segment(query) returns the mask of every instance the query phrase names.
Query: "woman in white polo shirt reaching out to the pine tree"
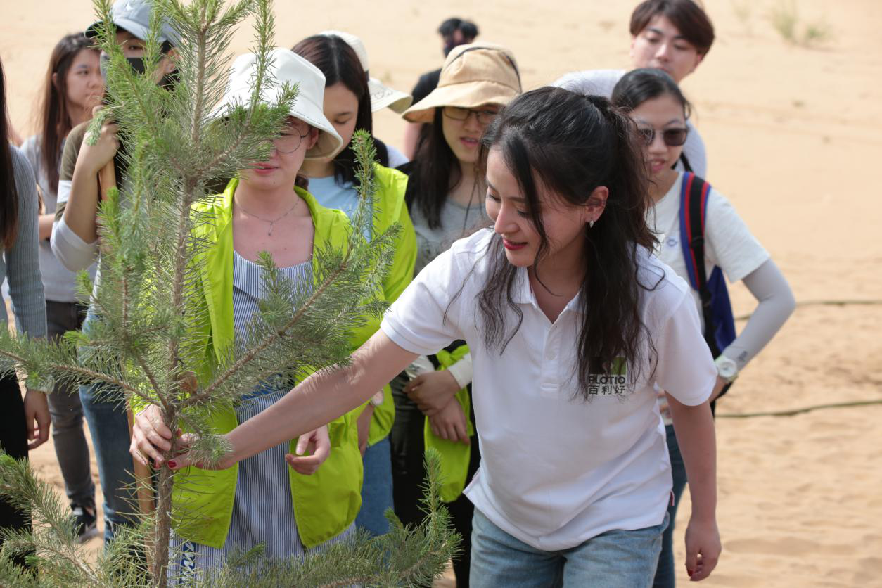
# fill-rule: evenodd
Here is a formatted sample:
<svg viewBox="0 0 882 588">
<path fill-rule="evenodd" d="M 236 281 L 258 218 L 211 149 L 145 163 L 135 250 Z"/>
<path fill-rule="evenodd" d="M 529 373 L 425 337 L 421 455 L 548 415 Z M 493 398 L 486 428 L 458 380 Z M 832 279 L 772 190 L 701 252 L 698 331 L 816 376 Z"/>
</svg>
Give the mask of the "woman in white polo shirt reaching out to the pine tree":
<svg viewBox="0 0 882 588">
<path fill-rule="evenodd" d="M 633 137 L 603 98 L 546 87 L 512 100 L 482 138 L 493 229 L 428 264 L 348 367 L 232 431 L 218 466 L 345 413 L 417 355 L 464 339 L 482 452 L 466 489 L 472 585 L 652 583 L 671 488 L 654 385 L 684 442 L 687 562 L 707 577 L 721 550 L 716 369 L 689 287 L 652 256 Z"/>
</svg>

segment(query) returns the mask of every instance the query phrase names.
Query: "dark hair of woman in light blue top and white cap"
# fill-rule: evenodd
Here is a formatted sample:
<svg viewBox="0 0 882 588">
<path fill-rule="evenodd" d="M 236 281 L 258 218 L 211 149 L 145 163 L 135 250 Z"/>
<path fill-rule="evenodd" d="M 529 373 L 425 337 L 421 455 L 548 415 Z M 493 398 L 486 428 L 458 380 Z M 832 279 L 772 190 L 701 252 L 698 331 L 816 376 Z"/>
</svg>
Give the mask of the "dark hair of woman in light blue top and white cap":
<svg viewBox="0 0 882 588">
<path fill-rule="evenodd" d="M 335 34 L 314 34 L 297 43 L 291 48 L 318 67 L 325 74 L 325 87 L 342 83 L 355 94 L 358 100 L 358 112 L 355 114 L 355 129 L 363 129 L 373 135 L 374 119 L 370 109 L 369 75 L 364 71 L 362 62 L 355 54 L 355 49 Z M 386 146 L 374 138 L 377 147 L 377 160 L 380 165 L 389 165 L 389 152 Z M 356 183 L 355 152 L 352 143 L 333 158 L 334 180 L 338 183 Z"/>
</svg>

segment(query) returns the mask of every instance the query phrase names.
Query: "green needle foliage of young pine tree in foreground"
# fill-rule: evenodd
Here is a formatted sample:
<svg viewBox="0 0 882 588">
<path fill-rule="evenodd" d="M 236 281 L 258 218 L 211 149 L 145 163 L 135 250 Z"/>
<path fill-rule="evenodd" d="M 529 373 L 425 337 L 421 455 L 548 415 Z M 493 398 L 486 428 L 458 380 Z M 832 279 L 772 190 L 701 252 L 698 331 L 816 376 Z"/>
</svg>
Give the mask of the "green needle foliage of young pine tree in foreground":
<svg viewBox="0 0 882 588">
<path fill-rule="evenodd" d="M 99 19 L 112 23 L 110 0 L 95 0 Z M 175 83 L 155 83 L 161 60 L 161 17 L 168 17 L 182 42 L 177 51 Z M 253 18 L 252 51 L 258 74 L 249 103 L 212 115 L 228 78 L 228 47 L 235 26 Z M 92 294 L 95 320 L 84 332 L 47 343 L 17 337 L 0 329 L 0 371 L 26 375 L 29 387 L 49 383 L 106 384 L 108 401 L 129 406 L 160 406 L 166 426 L 194 433 L 193 451 L 217 463 L 227 451 L 208 428 L 213 411 L 228 409 L 258 383 L 273 377 L 302 378 L 317 368 L 345 363 L 349 335 L 366 316 L 378 316 L 384 304 L 375 293 L 392 259 L 397 227 L 363 238 L 371 226 L 375 191 L 375 151 L 366 132 L 353 138 L 360 167 L 362 203 L 352 232 L 340 250 L 317 243 L 310 281 L 285 278 L 268 254 L 265 300 L 243 337 L 237 336 L 221 361 L 206 363 L 208 317 L 198 303 L 200 254 L 207 243 L 199 227 L 213 222 L 194 212 L 217 186 L 250 162 L 269 153 L 268 139 L 278 136 L 296 100 L 296 87 L 285 86 L 278 100 L 264 104 L 263 89 L 273 83 L 267 71 L 273 48 L 273 18 L 268 0 L 154 0 L 154 18 L 146 39 L 146 71 L 138 74 L 116 45 L 112 24 L 99 33 L 107 53 L 108 107 L 91 133 L 108 118 L 119 126 L 125 182 L 109 190 L 99 210 L 100 279 L 78 276 L 80 293 Z M 87 138 L 86 140 L 92 140 Z M 294 310 L 292 310 L 294 309 Z M 178 451 L 173 443 L 165 458 Z M 426 522 L 402 528 L 392 513 L 393 531 L 334 545 L 305 560 L 270 561 L 260 549 L 230 558 L 224 569 L 189 581 L 194 586 L 241 585 L 415 585 L 430 582 L 454 553 L 457 537 L 438 496 L 437 456 L 428 458 Z M 118 535 L 98 562 L 90 563 L 75 540 L 66 508 L 37 480 L 25 463 L 0 459 L 0 495 L 34 517 L 33 532 L 4 531 L 0 577 L 22 586 L 166 586 L 169 579 L 169 533 L 172 484 L 176 473 L 153 474 L 156 510 L 141 525 Z M 144 480 L 141 482 L 146 483 Z M 133 507 L 134 510 L 134 507 Z M 187 525 L 184 519 L 175 525 Z M 198 517 L 198 513 L 191 513 Z M 14 555 L 27 557 L 38 577 L 19 569 Z"/>
</svg>

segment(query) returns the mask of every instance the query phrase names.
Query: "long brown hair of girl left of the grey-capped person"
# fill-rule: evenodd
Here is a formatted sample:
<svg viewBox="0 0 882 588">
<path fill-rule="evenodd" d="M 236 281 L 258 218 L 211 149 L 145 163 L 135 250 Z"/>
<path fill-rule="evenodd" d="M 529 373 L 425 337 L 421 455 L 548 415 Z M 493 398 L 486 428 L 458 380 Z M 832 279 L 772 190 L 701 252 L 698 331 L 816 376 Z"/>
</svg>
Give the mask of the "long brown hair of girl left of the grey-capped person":
<svg viewBox="0 0 882 588">
<path fill-rule="evenodd" d="M 83 33 L 64 35 L 49 56 L 49 70 L 43 88 L 40 106 L 39 129 L 41 137 L 42 164 L 49 178 L 49 187 L 58 190 L 58 163 L 61 145 L 71 132 L 71 115 L 67 111 L 67 72 L 71 63 L 83 49 L 98 53 L 93 40 Z M 55 81 L 53 81 L 53 76 Z"/>
</svg>

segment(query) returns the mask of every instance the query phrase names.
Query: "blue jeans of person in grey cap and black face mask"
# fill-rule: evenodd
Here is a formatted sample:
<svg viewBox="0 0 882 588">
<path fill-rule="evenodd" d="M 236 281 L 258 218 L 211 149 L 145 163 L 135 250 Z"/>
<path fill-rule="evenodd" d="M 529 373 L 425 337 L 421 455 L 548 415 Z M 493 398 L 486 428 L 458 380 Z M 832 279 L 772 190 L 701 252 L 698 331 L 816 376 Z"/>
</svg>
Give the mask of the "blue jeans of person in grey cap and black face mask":
<svg viewBox="0 0 882 588">
<path fill-rule="evenodd" d="M 93 317 L 86 316 L 83 330 Z M 112 541 L 119 525 L 136 525 L 138 502 L 129 453 L 129 419 L 122 391 L 107 384 L 93 383 L 79 387 L 79 400 L 86 415 L 98 462 L 101 492 L 104 493 L 104 540 Z"/>
</svg>

